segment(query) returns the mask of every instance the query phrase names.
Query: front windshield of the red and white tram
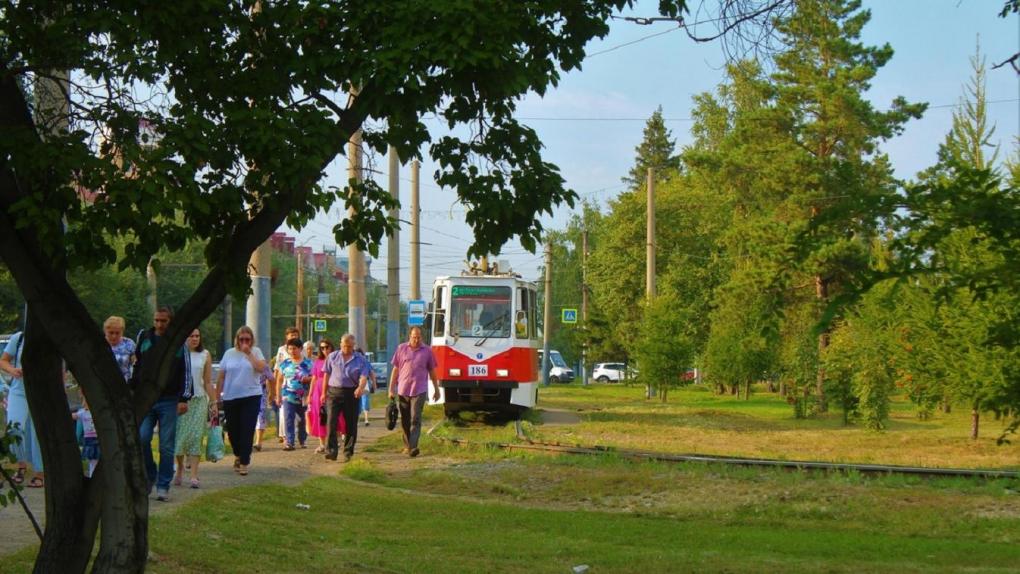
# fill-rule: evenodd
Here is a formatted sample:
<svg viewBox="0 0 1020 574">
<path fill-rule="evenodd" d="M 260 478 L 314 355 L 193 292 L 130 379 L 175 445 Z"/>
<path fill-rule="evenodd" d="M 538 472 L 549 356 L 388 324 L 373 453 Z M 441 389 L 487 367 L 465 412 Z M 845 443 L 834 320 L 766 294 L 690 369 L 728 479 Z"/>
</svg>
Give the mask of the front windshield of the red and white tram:
<svg viewBox="0 0 1020 574">
<path fill-rule="evenodd" d="M 509 286 L 454 285 L 450 292 L 450 333 L 468 338 L 509 338 Z"/>
</svg>

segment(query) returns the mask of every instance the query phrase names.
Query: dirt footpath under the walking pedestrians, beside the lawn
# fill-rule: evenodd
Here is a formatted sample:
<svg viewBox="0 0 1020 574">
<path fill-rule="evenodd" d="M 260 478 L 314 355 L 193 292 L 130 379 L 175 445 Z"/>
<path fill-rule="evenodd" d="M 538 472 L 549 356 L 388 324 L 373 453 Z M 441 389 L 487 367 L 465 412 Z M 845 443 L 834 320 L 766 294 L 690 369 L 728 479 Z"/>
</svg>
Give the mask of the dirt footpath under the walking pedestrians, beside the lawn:
<svg viewBox="0 0 1020 574">
<path fill-rule="evenodd" d="M 377 396 L 378 397 L 378 396 Z M 385 396 L 384 396 L 385 397 Z M 373 403 L 385 405 L 384 400 L 376 400 Z M 409 459 L 399 451 L 366 453 L 365 449 L 374 443 L 380 436 L 397 430 L 387 430 L 386 422 L 382 420 L 385 408 L 377 407 L 370 413 L 370 423 L 365 426 L 360 423 L 358 427 L 358 445 L 355 450 L 355 460 L 364 458 L 373 465 L 384 468 L 387 472 L 400 472 L 414 467 L 443 466 L 446 461 L 428 456 L 428 452 L 422 452 L 421 457 Z M 543 422 L 547 424 L 574 424 L 579 421 L 576 415 L 565 411 L 543 411 Z M 422 431 L 427 430 L 423 428 Z M 188 473 L 185 473 L 185 480 L 182 486 L 170 486 L 170 500 L 162 503 L 156 501 L 155 493 L 149 497 L 149 512 L 160 514 L 170 512 L 177 506 L 202 495 L 212 490 L 233 488 L 245 484 L 300 484 L 313 476 L 335 475 L 343 468 L 343 463 L 326 461 L 322 455 L 315 454 L 317 438 L 309 437 L 308 449 L 298 449 L 296 451 L 284 451 L 284 445 L 276 440 L 275 436 L 266 434 L 262 442 L 261 453 L 252 453 L 252 464 L 248 476 L 239 476 L 234 472 L 234 458 L 227 456 L 217 463 L 202 462 L 199 466 L 199 478 L 201 487 L 189 487 Z M 6 494 L 7 487 L 0 489 L 0 493 Z M 36 520 L 40 526 L 45 527 L 46 503 L 43 488 L 23 488 L 21 495 L 29 503 Z M 26 516 L 21 506 L 17 503 L 11 506 L 0 508 L 0 557 L 11 554 L 23 546 L 38 543 L 39 539 L 32 527 L 32 522 Z"/>
</svg>

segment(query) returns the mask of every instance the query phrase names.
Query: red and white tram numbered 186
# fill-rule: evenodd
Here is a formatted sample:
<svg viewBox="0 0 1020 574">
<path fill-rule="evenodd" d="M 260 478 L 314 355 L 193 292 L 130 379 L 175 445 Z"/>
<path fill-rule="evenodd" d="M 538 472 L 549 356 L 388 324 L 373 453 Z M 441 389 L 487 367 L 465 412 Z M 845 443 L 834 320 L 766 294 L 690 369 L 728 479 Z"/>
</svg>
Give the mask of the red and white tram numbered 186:
<svg viewBox="0 0 1020 574">
<path fill-rule="evenodd" d="M 477 273 L 477 272 L 476 272 Z M 523 411 L 539 397 L 536 285 L 513 273 L 438 277 L 431 347 L 448 416 Z"/>
</svg>

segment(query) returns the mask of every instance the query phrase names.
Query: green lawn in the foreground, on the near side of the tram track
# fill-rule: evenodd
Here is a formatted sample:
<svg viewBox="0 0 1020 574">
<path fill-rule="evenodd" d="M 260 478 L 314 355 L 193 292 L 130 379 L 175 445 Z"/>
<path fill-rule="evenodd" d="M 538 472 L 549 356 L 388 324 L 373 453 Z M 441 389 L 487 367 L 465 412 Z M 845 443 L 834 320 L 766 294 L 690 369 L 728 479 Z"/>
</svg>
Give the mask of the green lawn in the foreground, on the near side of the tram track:
<svg viewBox="0 0 1020 574">
<path fill-rule="evenodd" d="M 344 477 L 212 492 L 156 516 L 147 570 L 1014 572 L 1020 561 L 1020 485 L 1007 481 L 424 446 L 449 464 L 387 472 L 359 459 Z M 31 559 L 6 557 L 0 571 Z"/>
</svg>

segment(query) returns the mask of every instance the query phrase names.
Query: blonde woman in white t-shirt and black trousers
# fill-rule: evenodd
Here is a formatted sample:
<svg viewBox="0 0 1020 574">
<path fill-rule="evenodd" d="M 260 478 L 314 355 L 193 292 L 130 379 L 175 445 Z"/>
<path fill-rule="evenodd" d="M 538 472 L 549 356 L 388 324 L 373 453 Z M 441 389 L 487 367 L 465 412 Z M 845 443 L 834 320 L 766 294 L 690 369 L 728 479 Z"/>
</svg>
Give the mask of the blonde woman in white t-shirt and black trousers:
<svg viewBox="0 0 1020 574">
<path fill-rule="evenodd" d="M 226 415 L 226 434 L 234 449 L 234 470 L 245 476 L 251 464 L 252 440 L 259 404 L 262 402 L 260 377 L 266 368 L 265 358 L 255 347 L 255 333 L 245 325 L 234 335 L 234 348 L 219 360 L 219 397 Z"/>
</svg>

